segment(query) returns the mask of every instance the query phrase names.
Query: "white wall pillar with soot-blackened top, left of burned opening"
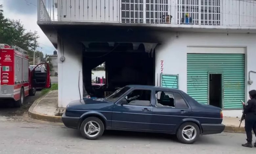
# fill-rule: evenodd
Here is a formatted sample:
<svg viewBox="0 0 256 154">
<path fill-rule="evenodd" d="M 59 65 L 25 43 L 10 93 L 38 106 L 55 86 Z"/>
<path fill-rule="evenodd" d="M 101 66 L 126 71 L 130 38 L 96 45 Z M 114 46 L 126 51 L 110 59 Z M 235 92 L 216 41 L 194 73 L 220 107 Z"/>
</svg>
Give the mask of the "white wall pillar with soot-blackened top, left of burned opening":
<svg viewBox="0 0 256 154">
<path fill-rule="evenodd" d="M 72 43 L 70 39 L 63 39 L 64 62 L 60 61 L 61 38 L 58 38 L 58 49 L 60 51 L 58 54 L 58 106 L 66 107 L 71 101 L 80 100 L 78 87 L 80 87 L 81 97 L 83 96 L 82 48 Z"/>
</svg>

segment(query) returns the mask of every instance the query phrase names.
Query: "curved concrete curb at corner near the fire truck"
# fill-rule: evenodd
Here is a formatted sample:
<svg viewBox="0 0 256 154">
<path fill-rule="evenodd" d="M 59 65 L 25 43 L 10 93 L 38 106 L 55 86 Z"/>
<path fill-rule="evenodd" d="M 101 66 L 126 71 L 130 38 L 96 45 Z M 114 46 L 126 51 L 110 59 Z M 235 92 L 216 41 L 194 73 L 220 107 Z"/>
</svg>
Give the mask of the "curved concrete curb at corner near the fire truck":
<svg viewBox="0 0 256 154">
<path fill-rule="evenodd" d="M 40 98 L 38 98 L 37 100 L 34 101 L 32 106 L 30 106 L 30 108 L 29 108 L 28 115 L 30 118 L 36 119 L 36 120 L 42 120 L 42 121 L 48 121 L 48 122 L 54 122 L 54 123 L 62 123 L 61 116 L 45 115 L 45 114 L 41 114 L 41 113 L 33 111 L 34 107 L 38 104 L 38 102 L 40 102 L 43 98 L 45 98 L 50 92 L 52 92 L 52 91 L 47 92 L 46 94 L 44 94 L 43 96 L 41 96 Z"/>
</svg>

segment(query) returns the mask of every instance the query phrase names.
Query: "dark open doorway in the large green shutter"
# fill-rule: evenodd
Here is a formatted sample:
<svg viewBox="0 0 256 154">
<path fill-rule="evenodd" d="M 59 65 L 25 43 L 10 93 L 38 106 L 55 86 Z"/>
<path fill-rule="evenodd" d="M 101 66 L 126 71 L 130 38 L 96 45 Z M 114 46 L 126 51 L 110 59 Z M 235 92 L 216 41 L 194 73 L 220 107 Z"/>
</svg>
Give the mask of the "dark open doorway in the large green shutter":
<svg viewBox="0 0 256 154">
<path fill-rule="evenodd" d="M 223 108 L 223 73 L 208 73 L 208 81 L 209 105 Z"/>
</svg>

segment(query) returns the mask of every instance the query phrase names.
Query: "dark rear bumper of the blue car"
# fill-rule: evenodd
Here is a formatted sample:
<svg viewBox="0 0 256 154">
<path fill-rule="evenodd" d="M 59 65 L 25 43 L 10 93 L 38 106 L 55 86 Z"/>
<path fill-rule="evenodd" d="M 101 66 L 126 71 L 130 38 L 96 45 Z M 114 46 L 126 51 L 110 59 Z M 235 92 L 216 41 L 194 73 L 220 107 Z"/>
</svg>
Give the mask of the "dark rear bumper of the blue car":
<svg viewBox="0 0 256 154">
<path fill-rule="evenodd" d="M 219 134 L 222 133 L 225 129 L 223 124 L 202 124 L 203 135 L 208 134 Z"/>
</svg>

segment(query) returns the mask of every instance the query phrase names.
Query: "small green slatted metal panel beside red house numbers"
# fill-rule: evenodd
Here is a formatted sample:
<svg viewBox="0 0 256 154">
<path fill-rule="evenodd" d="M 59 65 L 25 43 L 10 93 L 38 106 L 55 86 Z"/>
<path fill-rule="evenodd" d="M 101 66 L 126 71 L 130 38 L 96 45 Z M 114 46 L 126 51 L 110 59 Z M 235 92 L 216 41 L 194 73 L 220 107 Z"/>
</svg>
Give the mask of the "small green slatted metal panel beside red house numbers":
<svg viewBox="0 0 256 154">
<path fill-rule="evenodd" d="M 171 74 L 161 74 L 161 87 L 179 89 L 179 76 Z"/>
</svg>

